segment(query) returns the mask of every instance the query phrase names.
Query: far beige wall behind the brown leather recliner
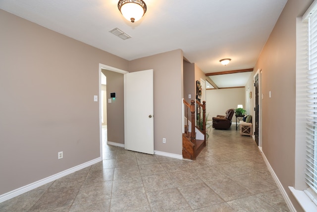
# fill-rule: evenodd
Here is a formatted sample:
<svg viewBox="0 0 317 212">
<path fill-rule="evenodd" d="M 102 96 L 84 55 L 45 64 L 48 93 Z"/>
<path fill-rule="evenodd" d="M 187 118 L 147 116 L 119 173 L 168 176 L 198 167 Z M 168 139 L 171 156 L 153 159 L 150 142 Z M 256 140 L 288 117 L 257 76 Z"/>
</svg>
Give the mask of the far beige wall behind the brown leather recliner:
<svg viewBox="0 0 317 212">
<path fill-rule="evenodd" d="M 236 109 L 238 104 L 245 102 L 244 88 L 208 89 L 206 91 L 206 113 L 208 120 L 217 115 L 225 115 L 226 110 Z M 235 118 L 232 118 L 235 122 Z"/>
</svg>

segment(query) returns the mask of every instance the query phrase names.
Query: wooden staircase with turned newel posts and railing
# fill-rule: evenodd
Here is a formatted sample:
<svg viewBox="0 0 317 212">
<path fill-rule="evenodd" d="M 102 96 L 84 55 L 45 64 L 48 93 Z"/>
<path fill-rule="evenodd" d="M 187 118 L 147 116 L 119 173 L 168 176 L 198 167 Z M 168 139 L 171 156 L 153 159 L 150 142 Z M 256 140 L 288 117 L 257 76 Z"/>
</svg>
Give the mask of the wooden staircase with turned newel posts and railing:
<svg viewBox="0 0 317 212">
<path fill-rule="evenodd" d="M 183 124 L 183 158 L 190 160 L 195 160 L 206 146 L 206 102 L 203 101 L 203 104 L 201 104 L 196 100 L 196 104 L 197 106 L 194 100 L 191 101 L 191 104 L 188 104 L 183 99 L 183 115 L 185 120 Z M 198 119 L 202 122 L 202 129 L 195 126 L 197 122 L 195 118 L 196 112 Z M 197 133 L 203 136 L 199 138 Z"/>
</svg>

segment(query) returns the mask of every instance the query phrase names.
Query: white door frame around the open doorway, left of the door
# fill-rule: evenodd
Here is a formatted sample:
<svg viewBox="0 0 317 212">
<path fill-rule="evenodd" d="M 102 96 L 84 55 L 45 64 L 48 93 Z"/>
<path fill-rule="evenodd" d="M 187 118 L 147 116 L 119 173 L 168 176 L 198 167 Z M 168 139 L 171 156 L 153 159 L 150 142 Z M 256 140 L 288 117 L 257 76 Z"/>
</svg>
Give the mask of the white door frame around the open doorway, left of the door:
<svg viewBox="0 0 317 212">
<path fill-rule="evenodd" d="M 114 72 L 118 72 L 118 73 L 128 73 L 128 71 L 124 71 L 121 69 L 117 69 L 111 66 L 107 66 L 104 64 L 99 64 L 99 138 L 100 138 L 100 157 L 103 158 L 103 138 L 102 138 L 102 119 L 101 119 L 101 101 L 100 101 L 100 97 L 101 97 L 101 74 L 102 74 L 102 70 L 108 70 L 108 71 L 114 71 Z M 124 82 L 123 82 L 123 86 L 124 86 Z"/>
</svg>

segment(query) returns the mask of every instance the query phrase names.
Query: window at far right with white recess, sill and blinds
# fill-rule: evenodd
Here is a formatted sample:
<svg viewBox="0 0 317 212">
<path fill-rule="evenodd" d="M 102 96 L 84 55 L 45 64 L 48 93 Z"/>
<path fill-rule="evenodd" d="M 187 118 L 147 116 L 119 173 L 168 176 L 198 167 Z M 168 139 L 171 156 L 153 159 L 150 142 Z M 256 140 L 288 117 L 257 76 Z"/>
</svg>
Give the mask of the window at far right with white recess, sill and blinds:
<svg viewBox="0 0 317 212">
<path fill-rule="evenodd" d="M 317 212 L 316 8 L 314 0 L 303 17 L 296 18 L 295 188 L 289 189 L 304 211 Z"/>
</svg>

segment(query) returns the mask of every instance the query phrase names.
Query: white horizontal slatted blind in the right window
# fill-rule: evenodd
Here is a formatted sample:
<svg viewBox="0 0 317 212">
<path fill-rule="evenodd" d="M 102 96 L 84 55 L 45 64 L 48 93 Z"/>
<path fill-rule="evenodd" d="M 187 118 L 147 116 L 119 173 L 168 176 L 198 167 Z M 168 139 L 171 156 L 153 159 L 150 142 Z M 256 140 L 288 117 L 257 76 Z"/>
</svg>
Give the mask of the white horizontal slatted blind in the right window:
<svg viewBox="0 0 317 212">
<path fill-rule="evenodd" d="M 309 17 L 309 70 L 307 80 L 306 183 L 317 193 L 317 12 Z"/>
</svg>

